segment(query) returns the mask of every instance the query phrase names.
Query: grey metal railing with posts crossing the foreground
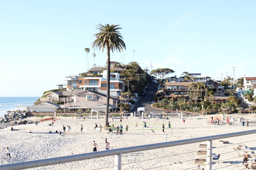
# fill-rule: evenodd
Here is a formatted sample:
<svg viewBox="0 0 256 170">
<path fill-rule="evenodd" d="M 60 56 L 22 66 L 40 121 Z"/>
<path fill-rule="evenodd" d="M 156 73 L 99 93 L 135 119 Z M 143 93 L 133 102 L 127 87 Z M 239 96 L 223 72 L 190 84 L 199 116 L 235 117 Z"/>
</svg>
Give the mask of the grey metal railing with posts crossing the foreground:
<svg viewBox="0 0 256 170">
<path fill-rule="evenodd" d="M 170 142 L 163 142 L 163 143 L 155 143 L 155 144 L 150 144 L 150 145 L 112 149 L 112 150 L 108 150 L 108 151 L 98 151 L 98 152 L 90 152 L 90 153 L 83 153 L 83 154 L 77 154 L 77 155 L 61 156 L 61 157 L 57 157 L 57 158 L 25 161 L 25 162 L 0 165 L 0 169 L 1 170 L 19 170 L 19 169 L 34 168 L 34 167 L 40 167 L 40 166 L 61 164 L 61 163 L 81 161 L 81 160 L 94 159 L 94 158 L 115 155 L 115 170 L 121 170 L 121 166 L 122 166 L 121 158 L 122 158 L 122 154 L 124 154 L 124 153 L 131 153 L 131 152 L 138 152 L 138 151 L 145 151 L 145 150 L 159 149 L 159 148 L 167 148 L 167 147 L 172 147 L 172 146 L 179 146 L 179 145 L 186 145 L 186 144 L 190 144 L 190 143 L 207 141 L 207 170 L 211 170 L 212 140 L 230 138 L 230 137 L 236 137 L 236 136 L 243 136 L 243 135 L 250 135 L 250 134 L 255 134 L 255 133 L 256 133 L 256 130 L 248 130 L 248 131 L 243 131 L 243 132 L 206 136 L 206 137 L 199 137 L 199 138 L 193 138 L 193 139 L 184 139 L 184 140 L 177 140 L 177 141 L 170 141 Z"/>
</svg>

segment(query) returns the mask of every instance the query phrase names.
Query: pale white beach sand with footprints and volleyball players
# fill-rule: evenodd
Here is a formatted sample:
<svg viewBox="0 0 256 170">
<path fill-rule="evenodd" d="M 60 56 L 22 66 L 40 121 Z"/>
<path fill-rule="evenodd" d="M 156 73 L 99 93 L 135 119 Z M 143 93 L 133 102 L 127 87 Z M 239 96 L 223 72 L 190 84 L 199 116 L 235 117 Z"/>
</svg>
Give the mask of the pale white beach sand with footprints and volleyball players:
<svg viewBox="0 0 256 170">
<path fill-rule="evenodd" d="M 210 115 L 210 117 L 211 116 L 214 115 Z M 231 114 L 229 116 L 239 116 L 239 114 Z M 254 114 L 246 114 L 242 116 L 247 120 L 251 120 L 252 116 L 254 117 Z M 31 117 L 30 119 L 35 120 L 37 118 Z M 179 118 L 171 118 L 172 131 L 171 129 L 167 129 L 168 125 L 166 124 L 165 133 L 163 133 L 161 129 L 157 129 L 154 130 L 156 135 L 150 135 L 150 130 L 129 130 L 128 134 L 124 134 L 125 124 L 135 124 L 136 122 L 142 124 L 142 120 L 138 117 L 136 117 L 135 123 L 133 117 L 128 117 L 128 121 L 126 119 L 123 120 L 123 135 L 111 135 L 107 133 L 108 131 L 103 131 L 103 134 L 99 135 L 98 131 L 94 130 L 94 125 L 95 123 L 104 125 L 103 118 L 99 119 L 98 122 L 96 119 L 93 119 L 91 122 L 88 118 L 86 121 L 75 118 L 71 121 L 70 117 L 62 117 L 61 120 L 57 120 L 54 126 L 47 126 L 51 121 L 41 122 L 38 126 L 35 126 L 35 124 L 13 126 L 14 129 L 19 129 L 18 131 L 10 131 L 10 127 L 7 127 L 5 129 L 0 129 L 0 148 L 2 149 L 0 163 L 8 164 L 20 161 L 89 153 L 92 152 L 93 140 L 98 144 L 98 150 L 102 151 L 104 150 L 106 137 L 110 141 L 110 149 L 116 149 L 253 130 L 256 127 L 256 123 L 250 123 L 249 126 L 241 126 L 241 123 L 237 123 L 237 121 L 236 125 L 233 126 L 226 124 L 209 125 L 206 124 L 206 120 L 208 119 L 209 115 L 191 116 L 187 117 L 184 125 L 180 122 Z M 164 123 L 168 123 L 168 121 L 169 120 L 166 120 Z M 114 124 L 118 122 L 119 119 L 116 118 Z M 145 122 L 147 124 L 153 124 L 155 123 L 155 119 L 146 119 Z M 83 124 L 83 134 L 80 132 L 81 123 Z M 159 120 L 158 123 L 163 123 L 163 120 Z M 58 130 L 58 132 L 63 131 L 62 125 L 71 126 L 70 135 L 60 136 L 59 133 L 48 133 L 49 130 L 52 132 L 55 132 L 56 130 Z M 161 125 L 147 126 L 150 126 L 151 128 L 161 128 Z M 135 125 L 129 125 L 129 129 L 132 128 L 135 128 Z M 143 129 L 143 125 L 138 125 L 137 128 Z M 229 143 L 218 144 L 218 140 L 212 142 L 212 153 L 221 154 L 219 163 L 217 161 L 216 164 L 213 164 L 212 169 L 243 169 L 243 156 L 238 157 L 236 151 L 233 151 L 229 145 L 243 142 L 255 152 L 255 135 L 221 140 L 227 140 Z M 206 159 L 206 155 L 197 155 L 197 151 L 202 150 L 198 148 L 199 144 L 207 144 L 207 142 L 122 154 L 122 169 L 197 169 L 196 167 L 198 164 L 194 164 L 194 160 L 198 158 Z M 5 154 L 6 147 L 9 147 L 11 150 L 10 159 L 7 158 Z M 254 154 L 251 155 L 252 158 L 254 158 Z M 114 169 L 114 158 L 114 156 L 108 156 L 31 169 Z M 206 166 L 203 167 L 206 168 Z"/>
</svg>

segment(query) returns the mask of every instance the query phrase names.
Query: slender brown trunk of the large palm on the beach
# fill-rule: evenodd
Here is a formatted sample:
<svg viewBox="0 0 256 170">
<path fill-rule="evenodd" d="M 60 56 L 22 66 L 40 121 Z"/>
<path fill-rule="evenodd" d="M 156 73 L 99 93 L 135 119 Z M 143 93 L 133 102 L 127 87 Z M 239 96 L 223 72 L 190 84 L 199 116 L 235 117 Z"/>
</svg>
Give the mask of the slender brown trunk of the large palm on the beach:
<svg viewBox="0 0 256 170">
<path fill-rule="evenodd" d="M 110 91 L 110 47 L 106 44 L 107 49 L 107 102 L 106 102 L 106 113 L 105 113 L 105 126 L 108 125 L 109 116 L 109 91 Z"/>
</svg>

